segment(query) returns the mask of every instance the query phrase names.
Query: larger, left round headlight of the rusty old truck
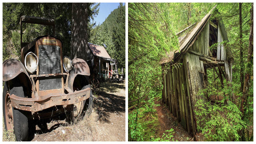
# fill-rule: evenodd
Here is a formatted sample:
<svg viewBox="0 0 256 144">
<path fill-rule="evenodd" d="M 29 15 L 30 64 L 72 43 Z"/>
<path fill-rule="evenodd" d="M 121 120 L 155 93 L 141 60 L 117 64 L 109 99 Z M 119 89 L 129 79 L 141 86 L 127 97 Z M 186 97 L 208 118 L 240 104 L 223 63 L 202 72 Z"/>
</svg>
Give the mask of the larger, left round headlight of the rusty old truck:
<svg viewBox="0 0 256 144">
<path fill-rule="evenodd" d="M 29 73 L 33 73 L 36 71 L 38 66 L 38 58 L 33 52 L 28 52 L 25 57 L 25 68 Z"/>
</svg>

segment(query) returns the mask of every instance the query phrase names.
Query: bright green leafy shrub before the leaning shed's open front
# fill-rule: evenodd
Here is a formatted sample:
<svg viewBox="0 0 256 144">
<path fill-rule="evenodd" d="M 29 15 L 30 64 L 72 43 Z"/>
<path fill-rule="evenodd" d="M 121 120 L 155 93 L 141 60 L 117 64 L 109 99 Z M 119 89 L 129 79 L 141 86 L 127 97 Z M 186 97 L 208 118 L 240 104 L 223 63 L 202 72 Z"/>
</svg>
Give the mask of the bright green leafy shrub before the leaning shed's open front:
<svg viewBox="0 0 256 144">
<path fill-rule="evenodd" d="M 241 112 L 237 106 L 228 101 L 225 105 L 222 101 L 214 104 L 196 101 L 195 115 L 197 118 L 197 130 L 201 131 L 206 140 L 209 141 L 238 141 L 238 132 L 245 128 L 241 119 Z"/>
</svg>

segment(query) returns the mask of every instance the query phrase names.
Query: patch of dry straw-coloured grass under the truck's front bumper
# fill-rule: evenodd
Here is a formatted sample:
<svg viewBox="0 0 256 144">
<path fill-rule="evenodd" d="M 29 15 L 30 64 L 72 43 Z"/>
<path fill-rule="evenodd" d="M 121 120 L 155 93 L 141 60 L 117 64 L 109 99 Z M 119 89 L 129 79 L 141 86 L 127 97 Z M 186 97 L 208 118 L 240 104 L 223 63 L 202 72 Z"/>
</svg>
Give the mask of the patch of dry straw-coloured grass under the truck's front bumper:
<svg viewBox="0 0 256 144">
<path fill-rule="evenodd" d="M 99 115 L 92 110 L 90 116 L 75 119 L 71 124 L 64 122 L 52 132 L 36 134 L 32 141 L 98 141 L 98 119 Z"/>
</svg>

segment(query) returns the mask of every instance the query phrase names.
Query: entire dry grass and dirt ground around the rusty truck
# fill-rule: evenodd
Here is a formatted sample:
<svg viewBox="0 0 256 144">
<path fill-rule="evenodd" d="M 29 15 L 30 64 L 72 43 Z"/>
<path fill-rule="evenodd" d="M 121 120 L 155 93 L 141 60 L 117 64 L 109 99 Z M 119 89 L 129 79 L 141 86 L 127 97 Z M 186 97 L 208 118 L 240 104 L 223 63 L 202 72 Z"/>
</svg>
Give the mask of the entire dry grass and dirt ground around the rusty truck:
<svg viewBox="0 0 256 144">
<path fill-rule="evenodd" d="M 92 114 L 75 124 L 68 124 L 65 119 L 52 120 L 47 128 L 37 124 L 28 140 L 125 141 L 125 83 L 104 83 L 104 91 L 94 95 L 93 105 Z M 12 135 L 3 128 L 3 141 L 13 141 Z"/>
</svg>

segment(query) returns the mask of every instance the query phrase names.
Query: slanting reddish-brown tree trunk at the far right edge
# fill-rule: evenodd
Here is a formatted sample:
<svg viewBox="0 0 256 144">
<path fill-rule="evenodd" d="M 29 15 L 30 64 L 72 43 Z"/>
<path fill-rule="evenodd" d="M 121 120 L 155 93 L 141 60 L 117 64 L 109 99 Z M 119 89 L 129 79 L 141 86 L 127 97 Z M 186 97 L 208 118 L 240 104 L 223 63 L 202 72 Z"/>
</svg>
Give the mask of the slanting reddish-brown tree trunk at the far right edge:
<svg viewBox="0 0 256 144">
<path fill-rule="evenodd" d="M 245 67 L 245 79 L 244 79 L 244 87 L 243 87 L 243 97 L 241 101 L 240 110 L 242 112 L 242 120 L 245 117 L 245 107 L 247 105 L 247 100 L 249 97 L 249 85 L 252 81 L 251 79 L 251 71 L 253 67 L 253 3 L 251 8 L 251 20 L 250 20 L 250 35 L 249 35 L 249 47 L 248 47 L 248 56 L 247 56 L 247 64 Z M 244 137 L 244 129 L 242 131 L 242 140 L 245 141 Z"/>
</svg>

